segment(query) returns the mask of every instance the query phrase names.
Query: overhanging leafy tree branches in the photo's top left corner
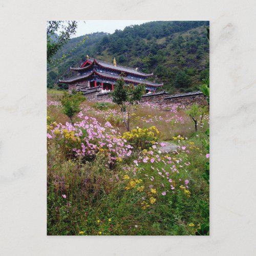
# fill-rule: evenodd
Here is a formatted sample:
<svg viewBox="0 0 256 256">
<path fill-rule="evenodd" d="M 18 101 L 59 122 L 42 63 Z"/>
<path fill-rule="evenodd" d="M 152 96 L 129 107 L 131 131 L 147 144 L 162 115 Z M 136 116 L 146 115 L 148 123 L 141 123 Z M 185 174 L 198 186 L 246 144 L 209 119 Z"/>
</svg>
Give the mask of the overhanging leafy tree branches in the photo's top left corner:
<svg viewBox="0 0 256 256">
<path fill-rule="evenodd" d="M 47 62 L 50 63 L 52 57 L 65 44 L 71 35 L 74 35 L 77 28 L 75 20 L 49 20 L 47 22 Z M 59 36 L 56 35 L 60 30 Z"/>
</svg>

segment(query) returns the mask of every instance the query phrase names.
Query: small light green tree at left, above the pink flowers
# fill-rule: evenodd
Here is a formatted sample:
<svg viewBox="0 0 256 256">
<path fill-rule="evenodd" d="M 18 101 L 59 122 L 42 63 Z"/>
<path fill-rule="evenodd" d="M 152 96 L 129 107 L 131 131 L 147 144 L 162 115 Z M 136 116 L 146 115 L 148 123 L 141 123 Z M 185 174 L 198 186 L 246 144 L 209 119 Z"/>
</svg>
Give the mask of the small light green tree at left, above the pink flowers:
<svg viewBox="0 0 256 256">
<path fill-rule="evenodd" d="M 80 104 L 86 100 L 86 97 L 81 92 L 72 91 L 71 94 L 64 92 L 60 100 L 62 105 L 62 113 L 69 117 L 70 122 L 74 125 L 73 117 L 80 112 Z"/>
</svg>

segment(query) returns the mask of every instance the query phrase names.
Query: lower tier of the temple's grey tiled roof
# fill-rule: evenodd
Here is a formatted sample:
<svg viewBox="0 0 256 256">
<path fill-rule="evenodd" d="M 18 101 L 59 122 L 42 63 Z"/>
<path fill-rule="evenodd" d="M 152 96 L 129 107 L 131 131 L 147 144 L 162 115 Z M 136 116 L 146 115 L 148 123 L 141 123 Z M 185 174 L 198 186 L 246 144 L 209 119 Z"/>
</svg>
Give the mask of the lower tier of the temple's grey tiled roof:
<svg viewBox="0 0 256 256">
<path fill-rule="evenodd" d="M 98 72 L 98 71 L 92 71 L 91 73 L 88 73 L 86 75 L 82 75 L 82 76 L 75 76 L 75 77 L 71 77 L 67 80 L 59 80 L 60 82 L 63 82 L 63 83 L 70 83 L 70 82 L 74 82 L 74 81 L 77 81 L 77 80 L 81 80 L 83 78 L 87 78 L 91 75 L 98 75 L 98 76 L 101 76 L 101 77 L 104 77 L 104 78 L 113 78 L 113 79 L 119 79 L 120 76 L 119 75 L 112 75 L 112 74 L 108 74 L 108 73 L 103 73 L 103 72 Z M 126 82 L 131 82 L 131 83 L 145 83 L 147 86 L 152 86 L 152 87 L 160 87 L 160 86 L 163 86 L 163 83 L 155 83 L 155 82 L 151 82 L 151 81 L 147 81 L 147 80 L 139 80 L 139 79 L 135 79 L 135 78 L 126 78 L 126 77 L 123 77 L 123 80 L 126 81 Z"/>
</svg>

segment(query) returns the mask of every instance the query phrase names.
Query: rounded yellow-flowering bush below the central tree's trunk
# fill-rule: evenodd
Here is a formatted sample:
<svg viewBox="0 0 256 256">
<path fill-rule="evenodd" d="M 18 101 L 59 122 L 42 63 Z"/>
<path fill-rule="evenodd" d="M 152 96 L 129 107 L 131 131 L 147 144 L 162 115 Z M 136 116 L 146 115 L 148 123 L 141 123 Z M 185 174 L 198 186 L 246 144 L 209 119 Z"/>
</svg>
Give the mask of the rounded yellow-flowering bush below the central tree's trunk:
<svg viewBox="0 0 256 256">
<path fill-rule="evenodd" d="M 123 134 L 123 138 L 126 139 L 127 142 L 141 150 L 150 148 L 159 141 L 161 137 L 162 134 L 157 130 L 156 126 L 151 126 L 148 129 L 137 127 Z"/>
</svg>

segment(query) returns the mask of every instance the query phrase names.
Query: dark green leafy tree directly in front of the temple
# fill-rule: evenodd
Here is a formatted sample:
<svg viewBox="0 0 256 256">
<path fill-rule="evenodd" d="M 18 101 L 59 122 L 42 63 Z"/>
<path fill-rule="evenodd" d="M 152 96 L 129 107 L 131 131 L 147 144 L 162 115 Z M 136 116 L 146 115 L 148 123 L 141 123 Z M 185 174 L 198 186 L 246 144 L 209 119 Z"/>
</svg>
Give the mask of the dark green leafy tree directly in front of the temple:
<svg viewBox="0 0 256 256">
<path fill-rule="evenodd" d="M 138 103 L 144 93 L 144 84 L 138 84 L 136 87 L 133 84 L 127 86 L 122 76 L 120 76 L 120 79 L 115 84 L 114 90 L 110 94 L 112 101 L 120 106 L 127 132 L 130 131 L 131 107 Z"/>
</svg>

